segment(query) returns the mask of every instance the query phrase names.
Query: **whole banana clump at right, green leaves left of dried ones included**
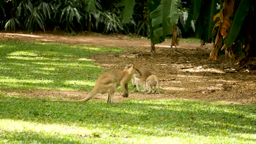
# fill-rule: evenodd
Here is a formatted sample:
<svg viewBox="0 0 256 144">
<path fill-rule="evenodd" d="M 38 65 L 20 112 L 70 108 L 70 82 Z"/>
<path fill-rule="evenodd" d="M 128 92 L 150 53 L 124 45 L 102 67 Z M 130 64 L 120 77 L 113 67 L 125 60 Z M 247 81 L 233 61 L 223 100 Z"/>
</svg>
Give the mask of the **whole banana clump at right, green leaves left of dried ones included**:
<svg viewBox="0 0 256 144">
<path fill-rule="evenodd" d="M 201 45 L 214 41 L 210 59 L 217 60 L 219 50 L 227 57 L 246 63 L 252 49 L 253 17 L 256 2 L 253 0 L 192 0 L 185 29 L 195 22 L 195 33 Z"/>
</svg>

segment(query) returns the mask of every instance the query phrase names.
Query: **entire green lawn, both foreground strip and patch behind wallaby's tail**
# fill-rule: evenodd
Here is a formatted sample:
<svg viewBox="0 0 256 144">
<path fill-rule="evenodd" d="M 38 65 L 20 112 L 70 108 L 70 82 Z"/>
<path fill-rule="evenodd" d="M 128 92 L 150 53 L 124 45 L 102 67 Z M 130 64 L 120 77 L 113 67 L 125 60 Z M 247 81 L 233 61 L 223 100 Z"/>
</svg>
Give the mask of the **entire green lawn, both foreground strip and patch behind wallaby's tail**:
<svg viewBox="0 0 256 144">
<path fill-rule="evenodd" d="M 0 91 L 91 91 L 104 70 L 88 56 L 122 51 L 0 40 Z M 256 143 L 254 105 L 50 100 L 0 94 L 0 143 Z"/>
</svg>

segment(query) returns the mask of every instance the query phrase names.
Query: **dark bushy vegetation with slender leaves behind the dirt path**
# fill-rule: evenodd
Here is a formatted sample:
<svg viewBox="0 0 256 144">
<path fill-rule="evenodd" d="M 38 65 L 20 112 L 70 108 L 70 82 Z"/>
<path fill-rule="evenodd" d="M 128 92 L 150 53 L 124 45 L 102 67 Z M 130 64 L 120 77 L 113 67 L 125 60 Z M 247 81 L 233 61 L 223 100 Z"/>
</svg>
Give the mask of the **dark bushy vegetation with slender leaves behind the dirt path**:
<svg viewBox="0 0 256 144">
<path fill-rule="evenodd" d="M 97 33 L 136 34 L 147 37 L 148 0 L 135 2 L 132 19 L 122 23 L 121 0 L 115 1 L 1 1 L 0 30 L 7 31 L 79 31 Z M 94 7 L 96 5 L 96 7 Z M 190 7 L 190 1 L 182 2 L 183 8 Z M 181 23 L 179 23 L 181 25 Z M 190 28 L 184 37 L 195 36 Z"/>
</svg>

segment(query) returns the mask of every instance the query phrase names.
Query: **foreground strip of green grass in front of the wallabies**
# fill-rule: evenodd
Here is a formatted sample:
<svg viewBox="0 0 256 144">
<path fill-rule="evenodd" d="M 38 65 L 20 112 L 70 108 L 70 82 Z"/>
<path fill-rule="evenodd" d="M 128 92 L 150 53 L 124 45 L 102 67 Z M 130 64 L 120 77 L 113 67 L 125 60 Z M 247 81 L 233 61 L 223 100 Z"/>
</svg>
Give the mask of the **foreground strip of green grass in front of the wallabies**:
<svg viewBox="0 0 256 144">
<path fill-rule="evenodd" d="M 255 106 L 190 100 L 130 99 L 117 105 L 50 100 L 0 94 L 0 143 L 255 141 Z"/>
</svg>

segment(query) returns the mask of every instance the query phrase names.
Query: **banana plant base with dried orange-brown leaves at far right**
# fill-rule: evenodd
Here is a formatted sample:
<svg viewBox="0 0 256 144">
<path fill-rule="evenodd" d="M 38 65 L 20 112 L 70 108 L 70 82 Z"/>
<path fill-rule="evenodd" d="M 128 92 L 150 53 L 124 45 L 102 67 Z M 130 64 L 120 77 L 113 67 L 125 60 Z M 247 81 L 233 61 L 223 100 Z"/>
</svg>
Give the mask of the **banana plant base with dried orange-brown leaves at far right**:
<svg viewBox="0 0 256 144">
<path fill-rule="evenodd" d="M 225 50 L 225 55 L 231 58 L 231 62 L 238 62 L 240 66 L 245 66 L 250 53 L 253 50 L 254 13 L 256 2 L 253 0 L 225 0 L 223 8 L 214 16 L 218 19 L 214 27 L 218 27 L 214 48 L 210 53 L 210 58 L 216 60 L 218 50 Z M 254 6 L 254 7 L 253 7 Z M 224 41 L 224 43 L 222 43 Z"/>
</svg>

